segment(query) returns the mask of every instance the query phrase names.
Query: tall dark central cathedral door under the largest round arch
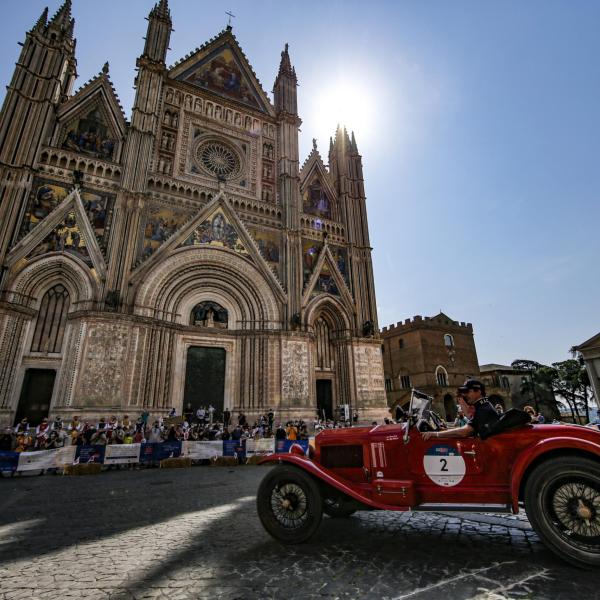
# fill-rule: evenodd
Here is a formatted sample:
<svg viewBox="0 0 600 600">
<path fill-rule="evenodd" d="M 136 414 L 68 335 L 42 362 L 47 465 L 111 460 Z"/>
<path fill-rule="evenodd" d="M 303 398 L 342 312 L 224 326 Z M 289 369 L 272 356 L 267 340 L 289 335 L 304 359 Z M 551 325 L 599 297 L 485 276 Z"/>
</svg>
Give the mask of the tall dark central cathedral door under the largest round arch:
<svg viewBox="0 0 600 600">
<path fill-rule="evenodd" d="M 196 414 L 201 406 L 215 407 L 215 417 L 223 413 L 225 393 L 225 349 L 191 346 L 185 367 L 183 412 Z M 231 407 L 228 407 L 231 409 Z"/>
</svg>

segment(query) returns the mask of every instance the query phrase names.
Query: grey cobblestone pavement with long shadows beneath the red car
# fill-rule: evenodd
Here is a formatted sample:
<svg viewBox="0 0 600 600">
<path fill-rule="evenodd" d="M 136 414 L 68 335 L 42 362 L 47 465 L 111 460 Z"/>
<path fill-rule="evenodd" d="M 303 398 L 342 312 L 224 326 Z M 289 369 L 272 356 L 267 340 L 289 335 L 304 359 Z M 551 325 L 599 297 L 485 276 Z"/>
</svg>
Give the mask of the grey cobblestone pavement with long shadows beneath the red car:
<svg viewBox="0 0 600 600">
<path fill-rule="evenodd" d="M 523 517 L 324 517 L 309 543 L 263 530 L 266 467 L 0 480 L 0 599 L 598 598 Z"/>
</svg>

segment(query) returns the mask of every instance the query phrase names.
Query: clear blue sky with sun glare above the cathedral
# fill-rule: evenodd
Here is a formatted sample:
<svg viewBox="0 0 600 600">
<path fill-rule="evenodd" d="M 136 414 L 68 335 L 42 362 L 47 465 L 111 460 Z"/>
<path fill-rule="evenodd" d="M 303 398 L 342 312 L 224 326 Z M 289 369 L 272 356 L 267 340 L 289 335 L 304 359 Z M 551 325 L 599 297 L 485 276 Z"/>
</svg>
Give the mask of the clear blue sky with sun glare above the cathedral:
<svg viewBox="0 0 600 600">
<path fill-rule="evenodd" d="M 47 3 L 4 3 L 0 81 Z M 74 0 L 77 84 L 110 61 L 128 117 L 152 3 Z M 600 330 L 600 2 L 170 6 L 170 64 L 230 9 L 270 92 L 289 42 L 302 160 L 312 137 L 326 155 L 332 89 L 350 90 L 381 326 L 442 309 L 473 323 L 480 363 L 563 360 Z"/>
</svg>

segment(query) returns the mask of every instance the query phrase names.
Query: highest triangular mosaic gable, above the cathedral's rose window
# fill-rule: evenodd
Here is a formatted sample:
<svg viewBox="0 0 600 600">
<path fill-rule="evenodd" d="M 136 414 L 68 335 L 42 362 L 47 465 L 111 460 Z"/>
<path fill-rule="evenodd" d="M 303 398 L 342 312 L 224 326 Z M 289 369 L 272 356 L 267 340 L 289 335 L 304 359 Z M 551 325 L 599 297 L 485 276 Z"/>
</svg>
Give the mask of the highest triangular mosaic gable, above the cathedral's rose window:
<svg viewBox="0 0 600 600">
<path fill-rule="evenodd" d="M 235 39 L 226 33 L 220 43 L 207 45 L 177 65 L 171 76 L 255 110 L 271 113 L 269 99 L 254 76 Z"/>
</svg>

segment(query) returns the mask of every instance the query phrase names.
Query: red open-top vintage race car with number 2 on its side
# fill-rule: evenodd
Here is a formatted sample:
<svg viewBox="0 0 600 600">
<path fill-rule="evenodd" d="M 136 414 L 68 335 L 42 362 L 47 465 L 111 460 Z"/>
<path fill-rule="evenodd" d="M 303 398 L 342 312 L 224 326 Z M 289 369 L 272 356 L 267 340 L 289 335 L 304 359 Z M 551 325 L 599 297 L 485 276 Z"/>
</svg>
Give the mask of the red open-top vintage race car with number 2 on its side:
<svg viewBox="0 0 600 600">
<path fill-rule="evenodd" d="M 272 454 L 258 515 L 277 540 L 308 540 L 322 514 L 358 510 L 512 512 L 525 507 L 541 540 L 580 567 L 600 566 L 600 432 L 575 425 L 514 426 L 485 440 L 424 441 L 437 429 L 432 399 L 414 392 L 409 420 L 325 430 L 309 456 Z M 500 428 L 501 429 L 501 428 Z"/>
</svg>

